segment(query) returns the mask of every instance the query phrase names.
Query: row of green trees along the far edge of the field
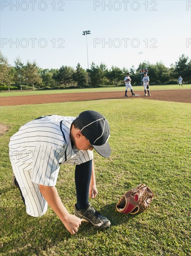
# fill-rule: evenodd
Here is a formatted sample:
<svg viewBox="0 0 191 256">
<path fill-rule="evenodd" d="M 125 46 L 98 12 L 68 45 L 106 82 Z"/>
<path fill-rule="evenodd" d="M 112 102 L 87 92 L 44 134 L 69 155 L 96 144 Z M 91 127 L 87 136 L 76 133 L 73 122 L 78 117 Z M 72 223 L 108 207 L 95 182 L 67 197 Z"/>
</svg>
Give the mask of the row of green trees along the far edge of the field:
<svg viewBox="0 0 191 256">
<path fill-rule="evenodd" d="M 0 53 L 0 88 L 8 90 L 13 88 L 71 88 L 71 87 L 102 87 L 124 85 L 124 77 L 127 72 L 131 74 L 132 84 L 140 85 L 140 68 L 147 68 L 150 77 L 150 84 L 174 84 L 181 75 L 184 83 L 191 83 L 191 60 L 182 54 L 175 64 L 170 68 L 162 62 L 151 64 L 143 62 L 139 67 L 132 66 L 129 70 L 112 66 L 110 69 L 101 63 L 99 66 L 94 62 L 90 68 L 85 70 L 77 63 L 76 68 L 62 66 L 59 69 L 43 69 L 37 66 L 36 62 L 27 61 L 26 65 L 16 58 L 14 66 L 9 65 L 7 58 Z"/>
</svg>

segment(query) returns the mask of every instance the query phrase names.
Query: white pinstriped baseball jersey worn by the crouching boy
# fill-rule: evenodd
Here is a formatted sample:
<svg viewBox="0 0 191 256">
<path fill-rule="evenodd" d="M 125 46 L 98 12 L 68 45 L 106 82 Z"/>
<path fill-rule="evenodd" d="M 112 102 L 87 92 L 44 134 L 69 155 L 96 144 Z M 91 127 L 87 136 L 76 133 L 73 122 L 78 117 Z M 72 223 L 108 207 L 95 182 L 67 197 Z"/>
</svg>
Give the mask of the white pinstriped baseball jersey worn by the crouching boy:
<svg viewBox="0 0 191 256">
<path fill-rule="evenodd" d="M 93 159 L 92 151 L 71 145 L 70 127 L 75 119 L 51 115 L 26 123 L 10 139 L 10 160 L 24 171 L 32 171 L 32 182 L 55 186 L 60 164 Z"/>
</svg>

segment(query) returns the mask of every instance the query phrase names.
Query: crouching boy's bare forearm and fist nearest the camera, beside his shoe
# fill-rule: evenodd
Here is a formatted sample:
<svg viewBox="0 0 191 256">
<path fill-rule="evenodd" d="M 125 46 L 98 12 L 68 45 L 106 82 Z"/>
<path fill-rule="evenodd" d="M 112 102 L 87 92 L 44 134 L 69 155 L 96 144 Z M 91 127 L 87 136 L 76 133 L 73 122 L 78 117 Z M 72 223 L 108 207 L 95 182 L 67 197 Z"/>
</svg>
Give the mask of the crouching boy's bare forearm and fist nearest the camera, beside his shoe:
<svg viewBox="0 0 191 256">
<path fill-rule="evenodd" d="M 68 231 L 74 235 L 80 224 L 81 220 L 74 215 L 71 215 L 67 209 L 64 207 L 58 193 L 56 187 L 47 187 L 44 185 L 39 185 L 40 191 L 42 191 L 42 195 L 45 198 L 46 202 L 49 204 L 51 209 L 56 213 L 59 219 L 63 222 L 64 226 Z"/>
</svg>

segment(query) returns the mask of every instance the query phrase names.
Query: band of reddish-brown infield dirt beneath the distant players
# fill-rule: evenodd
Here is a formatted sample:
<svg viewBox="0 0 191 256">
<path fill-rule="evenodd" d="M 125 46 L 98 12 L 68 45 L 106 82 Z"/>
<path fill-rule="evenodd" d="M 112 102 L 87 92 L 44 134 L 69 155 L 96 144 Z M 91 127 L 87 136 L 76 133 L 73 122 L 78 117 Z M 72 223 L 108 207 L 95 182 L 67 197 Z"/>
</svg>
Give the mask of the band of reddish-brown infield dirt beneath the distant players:
<svg viewBox="0 0 191 256">
<path fill-rule="evenodd" d="M 41 94 L 41 95 L 28 95 L 28 96 L 11 96 L 0 97 L 1 106 L 15 106 L 27 104 L 43 104 L 54 102 L 66 101 L 93 101 L 102 99 L 146 99 L 158 101 L 175 101 L 191 103 L 191 89 L 184 90 L 153 90 L 151 97 L 144 96 L 143 91 L 134 91 L 135 94 L 140 94 L 138 97 L 131 96 L 124 97 L 124 92 L 94 92 L 94 93 L 64 93 L 64 94 Z M 22 94 L 22 92 L 21 92 Z"/>
</svg>

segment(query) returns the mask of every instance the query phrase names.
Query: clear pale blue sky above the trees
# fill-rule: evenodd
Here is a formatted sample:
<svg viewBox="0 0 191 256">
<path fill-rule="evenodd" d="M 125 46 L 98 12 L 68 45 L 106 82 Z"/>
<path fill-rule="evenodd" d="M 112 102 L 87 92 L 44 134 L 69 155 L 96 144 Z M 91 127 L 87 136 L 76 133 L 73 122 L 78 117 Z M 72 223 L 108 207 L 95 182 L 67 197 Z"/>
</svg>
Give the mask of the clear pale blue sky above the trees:
<svg viewBox="0 0 191 256">
<path fill-rule="evenodd" d="M 0 51 L 42 68 L 97 65 L 167 67 L 191 58 L 191 1 L 0 0 Z M 142 52 L 142 54 L 139 54 Z"/>
</svg>

